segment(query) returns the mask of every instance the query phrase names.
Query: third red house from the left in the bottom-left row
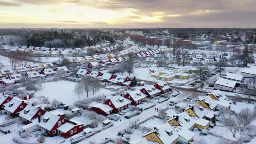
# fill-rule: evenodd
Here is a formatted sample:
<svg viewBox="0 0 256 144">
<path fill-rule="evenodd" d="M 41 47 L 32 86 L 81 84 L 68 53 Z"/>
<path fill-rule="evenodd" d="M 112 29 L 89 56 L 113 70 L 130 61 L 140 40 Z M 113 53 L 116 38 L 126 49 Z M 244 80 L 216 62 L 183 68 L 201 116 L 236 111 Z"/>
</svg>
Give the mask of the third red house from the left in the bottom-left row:
<svg viewBox="0 0 256 144">
<path fill-rule="evenodd" d="M 19 117 L 25 124 L 30 124 L 32 120 L 43 116 L 46 111 L 36 108 L 35 106 L 27 105 L 26 108 L 19 112 Z"/>
</svg>

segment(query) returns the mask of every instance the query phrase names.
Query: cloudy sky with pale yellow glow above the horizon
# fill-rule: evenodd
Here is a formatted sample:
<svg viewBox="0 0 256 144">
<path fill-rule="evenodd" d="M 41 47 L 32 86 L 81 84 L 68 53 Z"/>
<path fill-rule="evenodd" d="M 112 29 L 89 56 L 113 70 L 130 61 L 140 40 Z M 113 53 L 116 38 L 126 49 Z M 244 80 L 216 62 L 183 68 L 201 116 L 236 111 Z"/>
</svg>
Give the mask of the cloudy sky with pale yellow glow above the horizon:
<svg viewBox="0 0 256 144">
<path fill-rule="evenodd" d="M 0 28 L 256 28 L 256 0 L 0 0 Z"/>
</svg>

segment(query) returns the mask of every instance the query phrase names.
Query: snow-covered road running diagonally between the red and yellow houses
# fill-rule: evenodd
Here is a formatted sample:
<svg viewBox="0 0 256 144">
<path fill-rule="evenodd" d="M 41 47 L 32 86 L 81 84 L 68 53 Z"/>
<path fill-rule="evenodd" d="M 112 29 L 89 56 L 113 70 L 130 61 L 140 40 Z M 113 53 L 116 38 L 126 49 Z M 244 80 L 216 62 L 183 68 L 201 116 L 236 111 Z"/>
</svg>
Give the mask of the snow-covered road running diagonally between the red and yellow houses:
<svg viewBox="0 0 256 144">
<path fill-rule="evenodd" d="M 190 94 L 189 91 L 181 91 L 181 94 L 176 96 L 179 99 L 184 99 Z M 99 132 L 98 134 L 95 134 L 94 136 L 91 136 L 90 138 L 87 138 L 86 140 L 80 142 L 79 144 L 89 144 L 90 141 L 95 142 L 96 144 L 102 142 L 105 138 L 113 138 L 117 136 L 118 131 L 123 130 L 124 128 L 127 128 L 130 124 L 130 122 L 134 122 L 136 120 L 142 121 L 146 120 L 150 116 L 158 115 L 158 112 L 155 111 L 155 108 L 162 109 L 169 106 L 169 101 L 163 102 L 161 104 L 157 104 L 155 107 L 150 108 L 148 110 L 143 111 L 140 115 L 135 116 L 130 119 L 122 119 L 122 121 L 118 121 L 114 123 L 114 126 L 103 130 L 102 132 Z"/>
</svg>

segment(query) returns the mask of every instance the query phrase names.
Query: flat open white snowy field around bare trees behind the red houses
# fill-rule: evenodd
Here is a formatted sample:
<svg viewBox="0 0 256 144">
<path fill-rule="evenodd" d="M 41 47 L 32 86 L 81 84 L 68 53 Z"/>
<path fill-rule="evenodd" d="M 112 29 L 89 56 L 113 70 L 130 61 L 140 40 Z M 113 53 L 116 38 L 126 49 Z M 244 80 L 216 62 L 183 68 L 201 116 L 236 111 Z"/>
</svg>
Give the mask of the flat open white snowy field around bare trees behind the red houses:
<svg viewBox="0 0 256 144">
<path fill-rule="evenodd" d="M 78 100 L 78 95 L 74 93 L 74 88 L 76 86 L 76 82 L 70 81 L 58 81 L 58 82 L 46 82 L 42 84 L 42 90 L 38 90 L 35 92 L 35 97 L 37 96 L 46 96 L 50 101 L 57 99 L 65 104 L 73 104 L 76 100 Z M 101 94 L 111 94 L 111 90 L 100 89 L 100 91 L 96 92 L 94 95 L 92 92 L 89 92 L 89 96 L 87 97 L 86 93 L 80 95 L 80 99 L 91 98 L 93 96 L 99 96 Z"/>
</svg>

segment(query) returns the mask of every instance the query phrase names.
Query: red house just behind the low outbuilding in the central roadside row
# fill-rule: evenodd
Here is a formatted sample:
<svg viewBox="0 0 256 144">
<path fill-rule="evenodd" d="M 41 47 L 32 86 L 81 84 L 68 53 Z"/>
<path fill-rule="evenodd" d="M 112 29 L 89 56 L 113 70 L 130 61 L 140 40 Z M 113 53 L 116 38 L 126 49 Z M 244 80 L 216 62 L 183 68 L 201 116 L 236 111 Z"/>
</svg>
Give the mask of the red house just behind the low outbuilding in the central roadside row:
<svg viewBox="0 0 256 144">
<path fill-rule="evenodd" d="M 124 98 L 122 96 L 114 96 L 108 99 L 103 104 L 107 104 L 108 106 L 114 109 L 112 111 L 113 113 L 117 113 L 128 108 L 128 106 L 131 105 L 131 103 L 132 101 L 128 100 L 127 98 Z"/>
</svg>

